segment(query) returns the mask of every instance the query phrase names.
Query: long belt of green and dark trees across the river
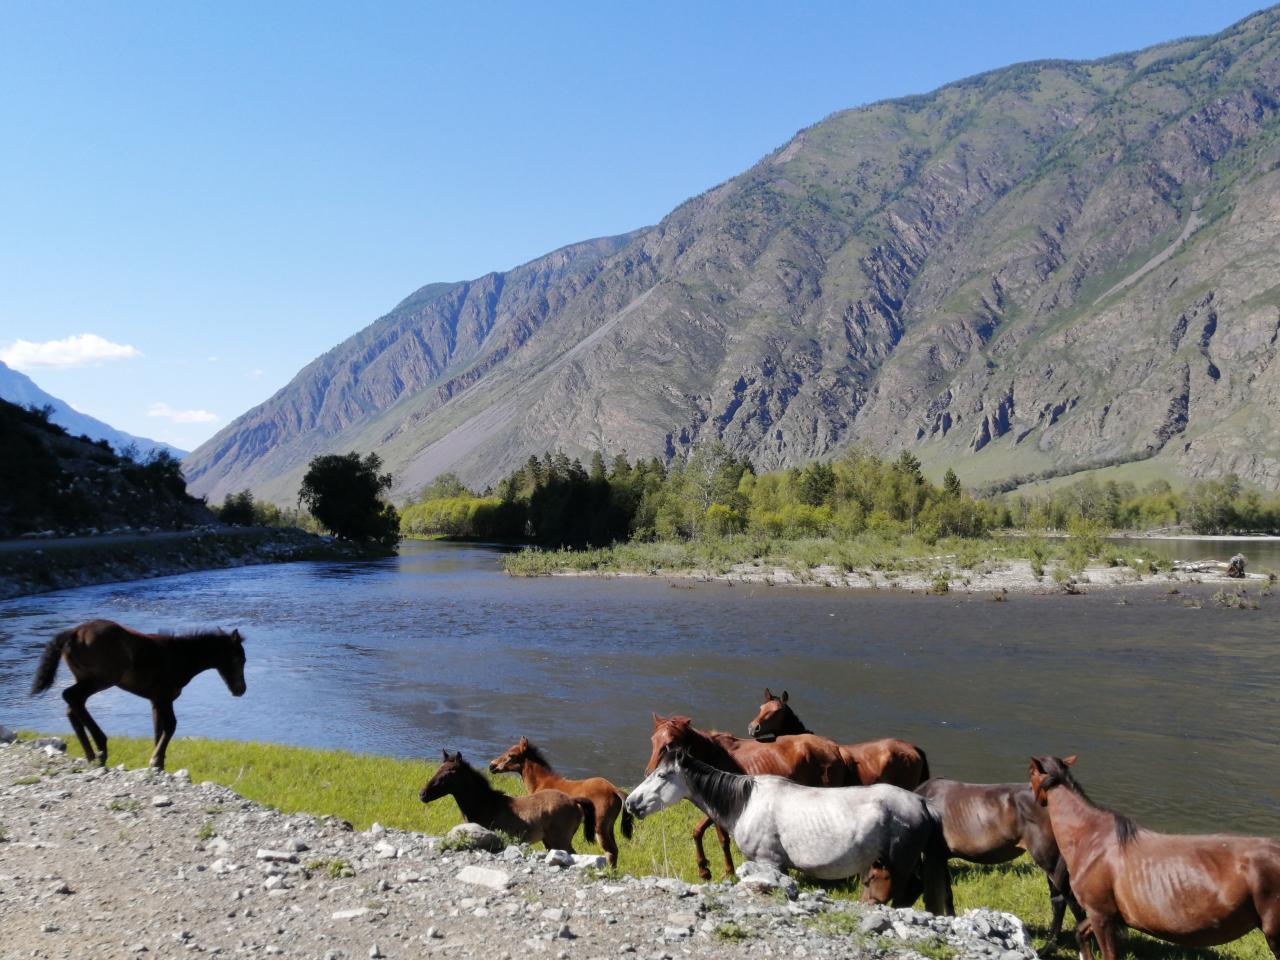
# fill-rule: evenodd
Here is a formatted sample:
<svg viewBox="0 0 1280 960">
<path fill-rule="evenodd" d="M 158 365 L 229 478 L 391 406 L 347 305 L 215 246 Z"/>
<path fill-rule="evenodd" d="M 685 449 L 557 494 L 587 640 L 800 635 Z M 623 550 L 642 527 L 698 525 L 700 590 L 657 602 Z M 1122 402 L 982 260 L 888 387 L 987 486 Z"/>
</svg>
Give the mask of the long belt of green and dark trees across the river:
<svg viewBox="0 0 1280 960">
<path fill-rule="evenodd" d="M 982 535 L 992 516 L 989 506 L 964 493 L 955 474 L 942 486 L 928 483 L 910 453 L 886 462 L 855 451 L 833 463 L 758 475 L 722 444 L 708 444 L 669 467 L 625 454 L 605 465 L 596 453 L 585 467 L 563 453 L 530 457 L 484 497 L 445 475 L 404 508 L 402 531 L 527 538 L 548 547 L 868 530 L 932 543 Z"/>
</svg>

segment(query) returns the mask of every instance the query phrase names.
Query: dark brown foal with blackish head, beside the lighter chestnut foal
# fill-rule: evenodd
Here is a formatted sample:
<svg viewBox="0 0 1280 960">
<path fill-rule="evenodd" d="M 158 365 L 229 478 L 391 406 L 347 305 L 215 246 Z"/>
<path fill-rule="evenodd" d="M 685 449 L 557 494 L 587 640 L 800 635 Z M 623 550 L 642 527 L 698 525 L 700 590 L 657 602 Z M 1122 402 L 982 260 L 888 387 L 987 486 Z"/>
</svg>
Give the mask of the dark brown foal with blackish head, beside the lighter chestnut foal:
<svg viewBox="0 0 1280 960">
<path fill-rule="evenodd" d="M 439 765 L 419 792 L 424 804 L 452 794 L 462 819 L 488 829 L 500 829 L 526 844 L 541 841 L 548 850 L 573 852 L 579 826 L 588 842 L 595 841 L 595 808 L 590 800 L 572 797 L 559 790 L 539 790 L 527 796 L 508 796 L 494 790 L 484 774 L 462 759 L 461 753 Z"/>
</svg>

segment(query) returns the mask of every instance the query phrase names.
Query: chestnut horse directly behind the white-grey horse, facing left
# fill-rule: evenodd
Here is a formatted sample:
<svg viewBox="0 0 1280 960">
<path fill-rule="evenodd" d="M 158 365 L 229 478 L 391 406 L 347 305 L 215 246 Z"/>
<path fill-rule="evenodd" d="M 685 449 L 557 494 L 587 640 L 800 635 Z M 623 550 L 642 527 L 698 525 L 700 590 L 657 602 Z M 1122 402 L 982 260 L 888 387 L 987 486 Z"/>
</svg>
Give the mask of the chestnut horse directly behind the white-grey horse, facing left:
<svg viewBox="0 0 1280 960">
<path fill-rule="evenodd" d="M 663 750 L 682 746 L 691 756 L 728 773 L 768 773 L 812 787 L 868 786 L 876 782 L 860 780 L 861 771 L 847 763 L 838 744 L 813 733 L 782 736 L 773 741 L 744 740 L 732 733 L 698 730 L 689 717 L 659 717 L 655 713 L 652 742 L 653 755 L 649 758 L 648 772 L 658 765 Z M 914 786 L 915 783 L 910 785 Z M 712 876 L 703 852 L 703 835 L 712 824 L 712 818 L 704 817 L 694 828 L 698 876 L 703 879 L 710 879 Z M 733 856 L 728 849 L 728 835 L 719 824 L 716 824 L 716 833 L 724 854 L 724 876 L 732 877 Z"/>
</svg>

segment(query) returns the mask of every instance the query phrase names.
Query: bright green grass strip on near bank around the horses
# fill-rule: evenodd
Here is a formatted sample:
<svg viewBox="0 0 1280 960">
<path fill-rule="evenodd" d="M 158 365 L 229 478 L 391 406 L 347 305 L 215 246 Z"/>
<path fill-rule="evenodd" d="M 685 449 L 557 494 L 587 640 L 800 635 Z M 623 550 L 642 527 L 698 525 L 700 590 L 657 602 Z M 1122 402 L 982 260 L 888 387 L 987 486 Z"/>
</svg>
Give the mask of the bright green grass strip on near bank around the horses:
<svg viewBox="0 0 1280 960">
<path fill-rule="evenodd" d="M 70 755 L 81 755 L 70 739 Z M 146 764 L 151 745 L 131 737 L 111 740 L 111 762 L 127 767 Z M 479 764 L 489 758 L 471 756 Z M 351 820 L 365 829 L 375 820 L 387 827 L 439 835 L 460 822 L 452 800 L 424 805 L 417 792 L 434 769 L 434 763 L 403 760 L 389 756 L 349 754 L 335 750 L 307 750 L 273 744 L 243 744 L 225 740 L 180 737 L 169 750 L 170 769 L 187 768 L 196 782 L 211 780 L 232 787 L 241 795 L 287 813 L 329 814 Z M 508 792 L 521 792 L 516 777 L 504 776 L 494 782 Z M 209 829 L 216 831 L 216 814 L 210 814 Z M 666 810 L 636 823 L 630 842 L 620 837 L 622 870 L 634 874 L 675 876 L 696 882 L 692 844 L 689 838 L 699 814 L 690 804 Z M 708 855 L 718 873 L 718 852 L 713 850 L 714 833 L 707 835 Z M 580 851 L 595 851 L 579 841 Z M 1043 942 L 1048 922 L 1048 897 L 1043 876 L 1025 859 L 995 868 L 954 864 L 956 909 L 989 906 L 1007 910 L 1027 923 L 1037 943 Z M 856 896 L 852 884 L 827 887 L 833 896 Z M 1069 918 L 1070 923 L 1070 918 Z M 1064 955 L 1073 952 L 1064 942 Z M 1216 951 L 1178 950 L 1140 934 L 1130 938 L 1125 955 L 1155 960 L 1171 957 L 1233 957 L 1266 960 L 1270 957 L 1261 933 Z"/>
</svg>

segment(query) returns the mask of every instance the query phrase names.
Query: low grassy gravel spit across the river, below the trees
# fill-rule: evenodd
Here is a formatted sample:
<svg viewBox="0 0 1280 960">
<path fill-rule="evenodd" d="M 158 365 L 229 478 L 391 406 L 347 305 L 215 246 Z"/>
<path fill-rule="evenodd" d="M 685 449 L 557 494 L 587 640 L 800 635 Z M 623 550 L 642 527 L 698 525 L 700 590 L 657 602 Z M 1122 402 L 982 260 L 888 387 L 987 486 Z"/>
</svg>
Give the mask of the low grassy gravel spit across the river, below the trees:
<svg viewBox="0 0 1280 960">
<path fill-rule="evenodd" d="M 767 586 L 826 586 L 909 593 L 1030 594 L 1210 584 L 1267 591 L 1270 572 L 1243 580 L 1189 572 L 1142 545 L 1070 539 L 972 539 L 923 544 L 910 538 L 628 543 L 588 550 L 521 550 L 503 558 L 512 576 L 657 576 Z M 1225 557 L 1222 559 L 1226 559 Z"/>
</svg>

